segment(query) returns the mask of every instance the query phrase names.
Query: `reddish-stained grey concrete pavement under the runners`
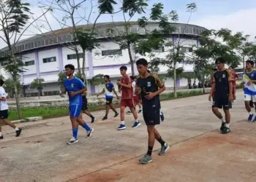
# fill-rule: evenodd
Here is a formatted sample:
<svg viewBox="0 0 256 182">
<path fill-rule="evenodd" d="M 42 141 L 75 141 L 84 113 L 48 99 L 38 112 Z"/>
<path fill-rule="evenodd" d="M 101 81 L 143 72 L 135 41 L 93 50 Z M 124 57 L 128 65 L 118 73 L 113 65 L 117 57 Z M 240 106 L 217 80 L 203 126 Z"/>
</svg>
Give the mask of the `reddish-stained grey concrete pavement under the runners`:
<svg viewBox="0 0 256 182">
<path fill-rule="evenodd" d="M 79 130 L 79 143 L 67 146 L 68 117 L 19 124 L 20 138 L 3 127 L 0 141 L 0 181 L 177 181 L 255 182 L 256 123 L 246 122 L 242 92 L 231 111 L 232 132 L 219 134 L 219 119 L 211 113 L 208 95 L 162 102 L 165 122 L 157 128 L 172 146 L 159 157 L 155 143 L 153 162 L 140 165 L 147 149 L 146 126 L 117 131 L 119 119 L 102 122 L 104 111 L 93 114 L 94 135 Z M 142 119 L 142 115 L 139 115 Z M 86 117 L 88 121 L 88 117 Z"/>
</svg>

